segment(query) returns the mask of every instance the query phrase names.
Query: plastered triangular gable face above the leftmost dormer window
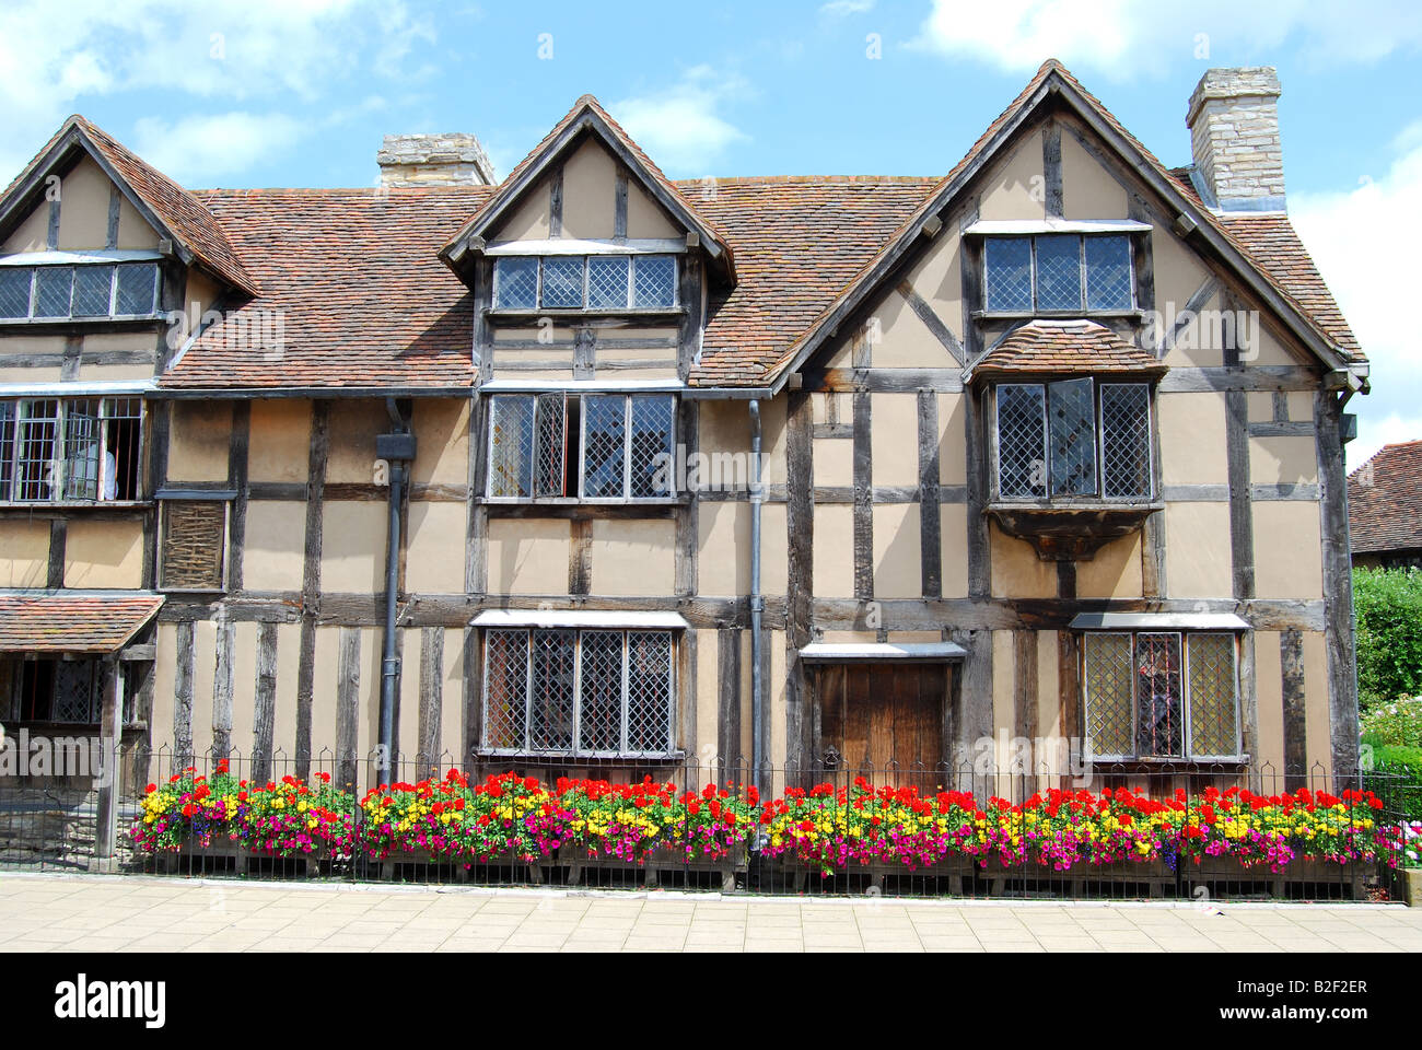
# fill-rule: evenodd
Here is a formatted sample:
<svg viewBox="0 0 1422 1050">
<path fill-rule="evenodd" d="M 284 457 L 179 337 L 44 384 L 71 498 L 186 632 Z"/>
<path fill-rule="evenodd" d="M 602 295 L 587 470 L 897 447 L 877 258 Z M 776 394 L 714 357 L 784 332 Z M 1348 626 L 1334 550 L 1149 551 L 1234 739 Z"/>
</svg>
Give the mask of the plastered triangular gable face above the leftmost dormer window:
<svg viewBox="0 0 1422 1050">
<path fill-rule="evenodd" d="M 92 158 L 84 155 L 58 176 L 57 203 L 60 222 L 54 249 L 145 249 L 158 248 L 154 226 L 124 196 L 118 185 Z M 0 253 L 44 252 L 50 249 L 48 193 L 40 196 L 27 216 L 0 242 Z"/>
</svg>

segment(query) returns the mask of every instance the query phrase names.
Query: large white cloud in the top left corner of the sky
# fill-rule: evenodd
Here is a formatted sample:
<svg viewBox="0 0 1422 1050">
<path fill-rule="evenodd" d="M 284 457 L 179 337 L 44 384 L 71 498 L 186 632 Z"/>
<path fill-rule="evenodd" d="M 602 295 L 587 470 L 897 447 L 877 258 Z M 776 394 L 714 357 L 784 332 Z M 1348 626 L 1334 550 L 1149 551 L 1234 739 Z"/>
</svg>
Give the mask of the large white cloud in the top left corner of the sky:
<svg viewBox="0 0 1422 1050">
<path fill-rule="evenodd" d="M 402 61 L 431 40 L 427 20 L 385 0 L 7 0 L 0 182 L 65 114 L 101 95 L 158 90 L 229 105 L 310 101 L 363 65 L 385 78 L 408 75 Z"/>
</svg>

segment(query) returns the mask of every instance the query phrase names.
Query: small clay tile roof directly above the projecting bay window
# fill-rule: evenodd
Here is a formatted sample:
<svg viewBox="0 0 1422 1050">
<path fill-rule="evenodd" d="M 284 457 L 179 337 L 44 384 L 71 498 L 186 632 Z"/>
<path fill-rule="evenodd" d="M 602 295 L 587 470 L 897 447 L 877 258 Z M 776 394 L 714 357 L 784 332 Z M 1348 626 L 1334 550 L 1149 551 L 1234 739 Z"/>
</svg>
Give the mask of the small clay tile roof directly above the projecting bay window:
<svg viewBox="0 0 1422 1050">
<path fill-rule="evenodd" d="M 1160 374 L 1155 354 L 1130 346 L 1089 320 L 1034 320 L 1012 332 L 973 366 L 974 376 Z"/>
</svg>

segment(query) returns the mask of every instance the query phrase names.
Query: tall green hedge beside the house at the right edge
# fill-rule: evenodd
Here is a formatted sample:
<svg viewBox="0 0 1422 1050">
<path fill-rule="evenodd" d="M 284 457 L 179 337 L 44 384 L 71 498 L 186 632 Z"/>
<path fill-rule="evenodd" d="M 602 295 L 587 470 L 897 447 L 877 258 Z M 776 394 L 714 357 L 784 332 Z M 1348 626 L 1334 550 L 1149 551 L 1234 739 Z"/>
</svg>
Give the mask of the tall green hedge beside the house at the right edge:
<svg viewBox="0 0 1422 1050">
<path fill-rule="evenodd" d="M 1352 595 L 1362 709 L 1422 693 L 1422 571 L 1354 569 Z"/>
</svg>

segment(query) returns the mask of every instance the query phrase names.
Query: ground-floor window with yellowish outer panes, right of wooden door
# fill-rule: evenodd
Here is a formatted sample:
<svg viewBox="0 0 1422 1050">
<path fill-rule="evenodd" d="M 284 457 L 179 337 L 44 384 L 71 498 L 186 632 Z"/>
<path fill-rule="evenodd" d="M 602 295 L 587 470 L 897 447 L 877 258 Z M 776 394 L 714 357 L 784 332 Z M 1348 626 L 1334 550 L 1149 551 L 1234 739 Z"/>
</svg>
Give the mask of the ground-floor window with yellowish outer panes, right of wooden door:
<svg viewBox="0 0 1422 1050">
<path fill-rule="evenodd" d="M 1096 758 L 1236 758 L 1234 636 L 1091 632 L 1082 646 Z"/>
</svg>

